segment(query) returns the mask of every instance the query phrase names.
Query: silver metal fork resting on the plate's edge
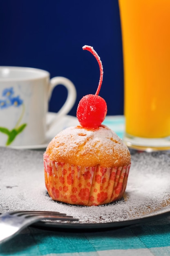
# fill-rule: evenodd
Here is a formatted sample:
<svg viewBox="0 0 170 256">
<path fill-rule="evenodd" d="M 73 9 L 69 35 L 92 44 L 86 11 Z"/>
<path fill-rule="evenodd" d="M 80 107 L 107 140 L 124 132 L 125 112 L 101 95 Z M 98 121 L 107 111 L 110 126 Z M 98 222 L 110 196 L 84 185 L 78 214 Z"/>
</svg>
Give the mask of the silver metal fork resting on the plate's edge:
<svg viewBox="0 0 170 256">
<path fill-rule="evenodd" d="M 39 220 L 78 221 L 77 218 L 56 211 L 9 211 L 0 215 L 0 243 Z"/>
</svg>

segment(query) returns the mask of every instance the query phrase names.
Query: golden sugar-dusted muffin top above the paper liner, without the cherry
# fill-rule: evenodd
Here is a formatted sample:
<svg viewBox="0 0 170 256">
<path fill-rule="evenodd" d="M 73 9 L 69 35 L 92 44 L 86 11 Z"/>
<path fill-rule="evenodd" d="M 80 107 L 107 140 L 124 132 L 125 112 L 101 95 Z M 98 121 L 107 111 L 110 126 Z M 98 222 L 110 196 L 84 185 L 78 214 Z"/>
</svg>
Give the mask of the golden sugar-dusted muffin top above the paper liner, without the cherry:
<svg viewBox="0 0 170 256">
<path fill-rule="evenodd" d="M 46 153 L 51 161 L 91 167 L 125 166 L 131 160 L 128 147 L 104 125 L 96 129 L 69 127 L 51 140 Z"/>
</svg>

